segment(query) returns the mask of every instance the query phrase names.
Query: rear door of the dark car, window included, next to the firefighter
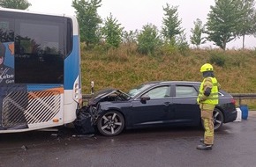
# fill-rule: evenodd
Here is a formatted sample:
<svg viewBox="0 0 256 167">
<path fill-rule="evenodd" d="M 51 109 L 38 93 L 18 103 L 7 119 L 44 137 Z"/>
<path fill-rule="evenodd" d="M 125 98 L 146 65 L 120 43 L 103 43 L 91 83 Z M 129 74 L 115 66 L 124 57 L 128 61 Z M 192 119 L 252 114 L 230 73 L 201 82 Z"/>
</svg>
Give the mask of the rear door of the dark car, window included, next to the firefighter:
<svg viewBox="0 0 256 167">
<path fill-rule="evenodd" d="M 174 84 L 172 86 L 173 112 L 177 123 L 200 123 L 200 106 L 197 104 L 198 91 L 193 85 Z"/>
</svg>

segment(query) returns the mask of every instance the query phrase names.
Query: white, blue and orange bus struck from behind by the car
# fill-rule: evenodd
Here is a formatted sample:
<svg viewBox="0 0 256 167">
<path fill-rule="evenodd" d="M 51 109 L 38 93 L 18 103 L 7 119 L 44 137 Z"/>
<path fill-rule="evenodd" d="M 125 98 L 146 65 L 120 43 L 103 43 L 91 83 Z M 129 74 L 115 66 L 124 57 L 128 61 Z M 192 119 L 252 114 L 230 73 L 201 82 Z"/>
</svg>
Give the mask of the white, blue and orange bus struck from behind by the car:
<svg viewBox="0 0 256 167">
<path fill-rule="evenodd" d="M 0 8 L 0 133 L 72 123 L 81 104 L 77 19 Z"/>
</svg>

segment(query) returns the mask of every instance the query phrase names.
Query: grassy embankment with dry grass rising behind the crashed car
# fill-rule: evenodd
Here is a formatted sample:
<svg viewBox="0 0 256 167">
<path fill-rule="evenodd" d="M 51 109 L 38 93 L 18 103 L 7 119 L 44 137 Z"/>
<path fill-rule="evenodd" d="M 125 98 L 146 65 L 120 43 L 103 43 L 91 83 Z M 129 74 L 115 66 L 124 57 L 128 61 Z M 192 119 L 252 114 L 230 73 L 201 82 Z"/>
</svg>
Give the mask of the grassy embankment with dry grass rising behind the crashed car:
<svg viewBox="0 0 256 167">
<path fill-rule="evenodd" d="M 135 85 L 155 80 L 201 81 L 200 66 L 210 60 L 221 64 L 213 63 L 223 90 L 256 93 L 255 50 L 192 49 L 186 55 L 169 52 L 148 56 L 138 54 L 135 47 L 120 47 L 108 52 L 88 51 L 82 47 L 81 53 L 83 93 L 90 93 L 91 81 L 94 81 L 95 91 L 108 87 L 128 91 Z M 248 103 L 256 108 L 255 101 Z"/>
</svg>

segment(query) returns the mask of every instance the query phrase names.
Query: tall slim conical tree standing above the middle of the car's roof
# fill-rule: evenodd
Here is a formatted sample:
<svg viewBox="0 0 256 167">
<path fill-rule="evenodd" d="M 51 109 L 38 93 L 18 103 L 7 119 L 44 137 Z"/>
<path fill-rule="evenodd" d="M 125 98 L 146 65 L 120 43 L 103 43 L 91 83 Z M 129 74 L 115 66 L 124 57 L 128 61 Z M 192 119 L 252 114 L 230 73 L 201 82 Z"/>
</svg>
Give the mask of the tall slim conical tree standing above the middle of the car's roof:
<svg viewBox="0 0 256 167">
<path fill-rule="evenodd" d="M 184 32 L 184 29 L 180 26 L 182 20 L 178 19 L 177 6 L 170 7 L 169 4 L 166 4 L 163 11 L 162 36 L 166 41 L 175 44 L 176 36 Z"/>
</svg>

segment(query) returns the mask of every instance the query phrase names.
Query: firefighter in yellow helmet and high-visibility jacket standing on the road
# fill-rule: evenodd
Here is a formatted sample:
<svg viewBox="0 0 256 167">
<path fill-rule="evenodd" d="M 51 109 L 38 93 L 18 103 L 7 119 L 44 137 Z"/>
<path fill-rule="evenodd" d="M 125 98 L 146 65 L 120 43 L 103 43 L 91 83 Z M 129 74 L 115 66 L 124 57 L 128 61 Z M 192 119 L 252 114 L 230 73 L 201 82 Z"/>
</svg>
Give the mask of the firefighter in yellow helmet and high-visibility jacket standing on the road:
<svg viewBox="0 0 256 167">
<path fill-rule="evenodd" d="M 215 127 L 213 121 L 213 112 L 215 105 L 218 104 L 218 92 L 220 85 L 214 75 L 214 68 L 211 64 L 206 63 L 201 66 L 200 72 L 204 80 L 200 84 L 200 93 L 197 98 L 200 105 L 201 119 L 205 128 L 204 139 L 200 139 L 202 144 L 197 149 L 210 150 L 214 145 Z"/>
</svg>

